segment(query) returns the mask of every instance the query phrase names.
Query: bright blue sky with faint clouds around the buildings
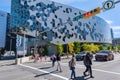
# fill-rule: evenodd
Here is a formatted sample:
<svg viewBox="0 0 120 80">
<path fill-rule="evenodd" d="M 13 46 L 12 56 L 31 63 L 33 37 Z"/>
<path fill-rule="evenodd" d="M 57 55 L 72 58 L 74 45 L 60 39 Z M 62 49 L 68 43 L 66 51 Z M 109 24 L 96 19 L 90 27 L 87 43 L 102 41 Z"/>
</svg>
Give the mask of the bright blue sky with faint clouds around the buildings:
<svg viewBox="0 0 120 80">
<path fill-rule="evenodd" d="M 68 6 L 72 6 L 84 11 L 90 11 L 96 7 L 103 6 L 103 2 L 107 0 L 52 0 L 59 2 Z M 118 0 L 114 0 L 115 2 Z M 11 0 L 1 0 L 0 1 L 0 10 L 10 13 L 11 9 Z M 115 8 L 101 11 L 97 16 L 103 18 L 106 22 L 109 23 L 110 27 L 113 29 L 114 38 L 120 38 L 120 3 L 115 4 Z"/>
</svg>

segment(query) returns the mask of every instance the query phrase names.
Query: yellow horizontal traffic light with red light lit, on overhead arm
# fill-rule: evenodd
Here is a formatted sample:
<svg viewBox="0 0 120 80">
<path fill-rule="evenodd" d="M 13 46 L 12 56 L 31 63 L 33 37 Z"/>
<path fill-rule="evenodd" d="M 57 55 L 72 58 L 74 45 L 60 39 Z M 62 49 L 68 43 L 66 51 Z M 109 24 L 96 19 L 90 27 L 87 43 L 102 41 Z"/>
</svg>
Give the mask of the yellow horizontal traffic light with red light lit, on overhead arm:
<svg viewBox="0 0 120 80">
<path fill-rule="evenodd" d="M 89 12 L 84 13 L 84 19 L 87 19 L 91 16 L 95 16 L 96 14 L 99 14 L 100 10 L 101 10 L 101 8 L 97 7 L 97 8 L 95 8 L 95 9 L 89 11 Z"/>
</svg>

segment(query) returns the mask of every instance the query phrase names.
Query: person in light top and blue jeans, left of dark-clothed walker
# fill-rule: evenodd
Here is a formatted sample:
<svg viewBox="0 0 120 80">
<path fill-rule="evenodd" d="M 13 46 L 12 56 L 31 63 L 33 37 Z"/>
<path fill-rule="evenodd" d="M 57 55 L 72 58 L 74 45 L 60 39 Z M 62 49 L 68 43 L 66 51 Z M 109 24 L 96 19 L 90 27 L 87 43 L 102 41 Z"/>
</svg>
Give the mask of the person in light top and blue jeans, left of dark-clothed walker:
<svg viewBox="0 0 120 80">
<path fill-rule="evenodd" d="M 75 60 L 75 57 L 73 55 L 72 59 L 69 61 L 69 67 L 71 70 L 71 79 L 73 76 L 74 76 L 74 79 L 76 78 L 75 65 L 76 65 L 76 60 Z"/>
</svg>

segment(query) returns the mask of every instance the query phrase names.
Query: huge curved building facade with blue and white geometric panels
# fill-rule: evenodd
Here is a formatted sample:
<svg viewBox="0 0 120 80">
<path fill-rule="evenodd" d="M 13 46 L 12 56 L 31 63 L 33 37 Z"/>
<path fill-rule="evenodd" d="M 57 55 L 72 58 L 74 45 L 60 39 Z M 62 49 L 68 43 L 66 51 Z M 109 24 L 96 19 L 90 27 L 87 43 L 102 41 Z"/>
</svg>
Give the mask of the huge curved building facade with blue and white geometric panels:
<svg viewBox="0 0 120 80">
<path fill-rule="evenodd" d="M 93 16 L 73 21 L 74 17 L 84 12 L 50 0 L 12 0 L 11 27 L 27 26 L 32 31 L 37 29 L 41 33 L 40 40 L 52 44 L 73 41 L 111 43 L 110 27 L 102 18 Z"/>
</svg>

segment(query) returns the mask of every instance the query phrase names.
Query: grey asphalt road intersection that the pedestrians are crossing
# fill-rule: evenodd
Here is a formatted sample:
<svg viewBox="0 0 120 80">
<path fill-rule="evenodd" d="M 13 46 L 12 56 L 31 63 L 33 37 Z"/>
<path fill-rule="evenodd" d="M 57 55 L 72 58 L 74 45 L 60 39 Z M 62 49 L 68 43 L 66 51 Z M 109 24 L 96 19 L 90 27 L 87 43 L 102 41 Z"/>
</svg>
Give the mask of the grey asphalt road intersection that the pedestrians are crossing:
<svg viewBox="0 0 120 80">
<path fill-rule="evenodd" d="M 0 80 L 69 80 L 71 71 L 68 67 L 69 59 L 61 61 L 62 72 L 56 71 L 51 67 L 51 62 L 28 62 L 25 64 L 1 65 L 0 62 Z M 120 54 L 115 54 L 113 61 L 95 61 L 93 59 L 93 76 L 84 77 L 85 67 L 82 61 L 76 64 L 76 80 L 120 80 Z"/>
</svg>

